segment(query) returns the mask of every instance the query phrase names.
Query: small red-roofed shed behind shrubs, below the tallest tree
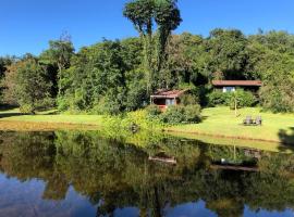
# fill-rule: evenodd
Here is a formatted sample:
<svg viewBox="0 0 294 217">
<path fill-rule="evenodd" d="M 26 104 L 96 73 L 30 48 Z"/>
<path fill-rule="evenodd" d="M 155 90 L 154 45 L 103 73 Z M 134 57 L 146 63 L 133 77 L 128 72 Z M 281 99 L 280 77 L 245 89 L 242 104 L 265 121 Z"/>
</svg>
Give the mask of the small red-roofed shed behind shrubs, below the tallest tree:
<svg viewBox="0 0 294 217">
<path fill-rule="evenodd" d="M 180 97 L 187 90 L 157 90 L 150 95 L 150 103 L 159 106 L 160 110 L 168 108 L 169 105 L 177 105 Z"/>
</svg>

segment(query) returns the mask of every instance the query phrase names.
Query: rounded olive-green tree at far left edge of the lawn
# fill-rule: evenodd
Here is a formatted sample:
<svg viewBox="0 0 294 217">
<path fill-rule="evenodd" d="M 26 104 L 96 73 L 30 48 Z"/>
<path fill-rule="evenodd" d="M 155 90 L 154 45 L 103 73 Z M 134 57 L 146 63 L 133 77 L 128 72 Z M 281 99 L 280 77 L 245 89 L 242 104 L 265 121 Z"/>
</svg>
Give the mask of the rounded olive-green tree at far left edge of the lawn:
<svg viewBox="0 0 294 217">
<path fill-rule="evenodd" d="M 24 113 L 34 113 L 36 108 L 52 105 L 52 82 L 36 59 L 27 58 L 9 66 L 4 85 L 5 100 L 20 105 Z"/>
</svg>

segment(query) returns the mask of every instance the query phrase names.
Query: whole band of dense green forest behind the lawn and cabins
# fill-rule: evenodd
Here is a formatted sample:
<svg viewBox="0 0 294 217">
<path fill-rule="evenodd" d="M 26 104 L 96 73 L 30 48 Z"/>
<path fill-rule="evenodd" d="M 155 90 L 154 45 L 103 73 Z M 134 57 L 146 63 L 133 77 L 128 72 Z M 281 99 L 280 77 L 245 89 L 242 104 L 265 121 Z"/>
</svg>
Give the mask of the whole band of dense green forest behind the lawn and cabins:
<svg viewBox="0 0 294 217">
<path fill-rule="evenodd" d="M 209 106 L 212 79 L 260 79 L 260 106 L 294 112 L 294 35 L 221 28 L 208 37 L 174 35 L 182 22 L 176 1 L 150 2 L 131 1 L 123 11 L 138 37 L 75 51 L 62 36 L 37 56 L 0 58 L 1 102 L 23 112 L 119 114 L 145 107 L 157 89 L 189 88 Z"/>
</svg>

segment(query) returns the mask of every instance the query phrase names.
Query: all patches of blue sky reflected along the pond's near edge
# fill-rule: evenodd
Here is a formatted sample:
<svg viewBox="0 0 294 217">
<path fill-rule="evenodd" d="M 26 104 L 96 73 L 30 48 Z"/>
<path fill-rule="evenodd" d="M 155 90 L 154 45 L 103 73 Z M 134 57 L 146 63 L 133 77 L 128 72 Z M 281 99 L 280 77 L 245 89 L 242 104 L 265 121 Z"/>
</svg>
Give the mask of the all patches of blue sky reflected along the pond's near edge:
<svg viewBox="0 0 294 217">
<path fill-rule="evenodd" d="M 0 174 L 0 216 L 54 216 L 54 217 L 79 217 L 96 216 L 97 208 L 88 200 L 81 196 L 70 188 L 63 201 L 42 200 L 46 183 L 32 179 L 21 182 L 15 178 L 8 178 Z M 167 217 L 215 217 L 213 212 L 206 208 L 203 201 L 197 203 L 185 203 L 174 207 L 167 206 L 163 210 Z M 115 217 L 136 217 L 139 209 L 136 207 L 117 208 Z M 244 217 L 290 217 L 293 210 L 286 209 L 282 213 L 267 210 L 244 209 Z"/>
</svg>

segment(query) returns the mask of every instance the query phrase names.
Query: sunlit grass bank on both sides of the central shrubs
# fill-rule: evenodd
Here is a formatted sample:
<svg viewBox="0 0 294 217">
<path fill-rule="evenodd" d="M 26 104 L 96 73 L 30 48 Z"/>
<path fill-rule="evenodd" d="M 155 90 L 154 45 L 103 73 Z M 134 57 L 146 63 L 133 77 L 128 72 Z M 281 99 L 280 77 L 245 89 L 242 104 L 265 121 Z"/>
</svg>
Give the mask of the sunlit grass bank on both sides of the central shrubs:
<svg viewBox="0 0 294 217">
<path fill-rule="evenodd" d="M 199 124 L 179 125 L 167 127 L 170 132 L 183 132 L 193 135 L 213 136 L 216 138 L 260 140 L 271 142 L 284 142 L 294 144 L 294 114 L 272 114 L 261 112 L 260 108 L 238 110 L 238 117 L 229 107 L 205 108 L 201 113 L 203 122 Z M 257 115 L 262 117 L 262 126 L 243 126 L 242 122 L 246 115 L 254 118 Z M 140 123 L 140 117 L 136 118 Z M 54 114 L 54 111 L 38 113 L 37 115 L 21 115 L 17 110 L 0 112 L 0 130 L 22 130 L 39 128 L 83 128 L 85 125 L 91 127 L 103 126 L 106 119 L 99 115 L 68 115 Z M 118 118 L 111 125 L 118 125 Z M 249 143 L 250 141 L 248 141 Z"/>
</svg>

